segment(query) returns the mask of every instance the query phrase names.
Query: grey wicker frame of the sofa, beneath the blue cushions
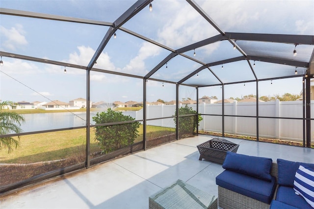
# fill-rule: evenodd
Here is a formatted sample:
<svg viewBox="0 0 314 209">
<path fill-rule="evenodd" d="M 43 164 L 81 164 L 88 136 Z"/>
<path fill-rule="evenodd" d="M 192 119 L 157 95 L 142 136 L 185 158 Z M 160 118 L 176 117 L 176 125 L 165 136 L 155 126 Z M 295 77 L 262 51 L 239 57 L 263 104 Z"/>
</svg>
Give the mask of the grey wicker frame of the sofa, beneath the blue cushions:
<svg viewBox="0 0 314 209">
<path fill-rule="evenodd" d="M 272 163 L 270 175 L 274 176 L 276 183 L 278 183 L 278 165 L 275 162 Z M 275 195 L 273 199 L 275 199 Z M 221 186 L 218 186 L 218 206 L 223 209 L 269 209 L 270 207 L 270 205 L 266 203 L 225 189 Z"/>
</svg>

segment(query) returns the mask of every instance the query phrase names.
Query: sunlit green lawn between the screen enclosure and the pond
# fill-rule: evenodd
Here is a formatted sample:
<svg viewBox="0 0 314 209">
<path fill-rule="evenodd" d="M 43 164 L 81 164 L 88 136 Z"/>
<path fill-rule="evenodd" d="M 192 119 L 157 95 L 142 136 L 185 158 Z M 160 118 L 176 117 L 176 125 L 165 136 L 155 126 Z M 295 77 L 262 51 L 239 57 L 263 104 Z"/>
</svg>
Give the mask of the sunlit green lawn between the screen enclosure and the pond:
<svg viewBox="0 0 314 209">
<path fill-rule="evenodd" d="M 138 129 L 139 136 L 134 142 L 143 140 L 143 126 Z M 175 132 L 172 128 L 147 126 L 148 137 L 166 135 Z M 94 140 L 95 133 L 90 133 L 90 153 L 100 151 L 97 142 Z M 63 159 L 75 155 L 78 152 L 85 152 L 86 129 L 75 129 L 67 131 L 56 131 L 21 136 L 20 146 L 12 153 L 7 150 L 0 150 L 0 163 L 33 163 Z"/>
</svg>

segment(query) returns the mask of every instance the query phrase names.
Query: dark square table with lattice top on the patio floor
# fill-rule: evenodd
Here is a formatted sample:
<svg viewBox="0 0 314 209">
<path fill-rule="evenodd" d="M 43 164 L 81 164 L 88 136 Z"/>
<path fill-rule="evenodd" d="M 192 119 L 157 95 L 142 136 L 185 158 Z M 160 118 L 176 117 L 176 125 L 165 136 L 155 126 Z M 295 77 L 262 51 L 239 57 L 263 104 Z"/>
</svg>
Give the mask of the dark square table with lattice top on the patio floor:
<svg viewBox="0 0 314 209">
<path fill-rule="evenodd" d="M 221 164 L 224 162 L 228 151 L 236 153 L 238 148 L 238 144 L 219 138 L 213 138 L 203 144 L 197 145 L 197 149 L 200 152 L 199 160 L 204 158 Z"/>
</svg>

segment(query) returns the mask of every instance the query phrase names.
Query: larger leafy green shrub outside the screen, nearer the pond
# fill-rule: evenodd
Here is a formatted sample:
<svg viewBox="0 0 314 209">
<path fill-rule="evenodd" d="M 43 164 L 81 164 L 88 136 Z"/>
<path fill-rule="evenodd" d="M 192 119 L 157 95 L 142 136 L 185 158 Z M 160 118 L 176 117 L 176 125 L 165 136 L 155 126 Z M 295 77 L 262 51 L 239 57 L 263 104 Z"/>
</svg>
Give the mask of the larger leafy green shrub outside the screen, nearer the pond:
<svg viewBox="0 0 314 209">
<path fill-rule="evenodd" d="M 131 116 L 123 115 L 122 112 L 113 111 L 111 108 L 107 112 L 97 113 L 93 117 L 96 124 L 113 123 L 121 121 L 133 121 Z M 138 136 L 137 129 L 139 122 L 132 122 L 119 125 L 95 127 L 95 141 L 98 141 L 102 153 L 112 152 L 134 143 Z"/>
</svg>

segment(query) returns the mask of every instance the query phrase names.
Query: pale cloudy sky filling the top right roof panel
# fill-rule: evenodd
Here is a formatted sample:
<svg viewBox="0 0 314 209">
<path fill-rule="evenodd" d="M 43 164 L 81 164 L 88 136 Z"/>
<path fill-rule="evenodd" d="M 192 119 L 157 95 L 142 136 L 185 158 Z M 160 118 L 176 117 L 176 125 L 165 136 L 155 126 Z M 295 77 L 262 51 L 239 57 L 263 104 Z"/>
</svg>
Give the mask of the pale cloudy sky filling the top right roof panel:
<svg viewBox="0 0 314 209">
<path fill-rule="evenodd" d="M 220 0 L 202 1 L 201 6 L 228 32 L 313 33 L 313 0 Z M 304 21 L 304 28 L 293 26 L 301 26 L 297 20 Z"/>
</svg>

